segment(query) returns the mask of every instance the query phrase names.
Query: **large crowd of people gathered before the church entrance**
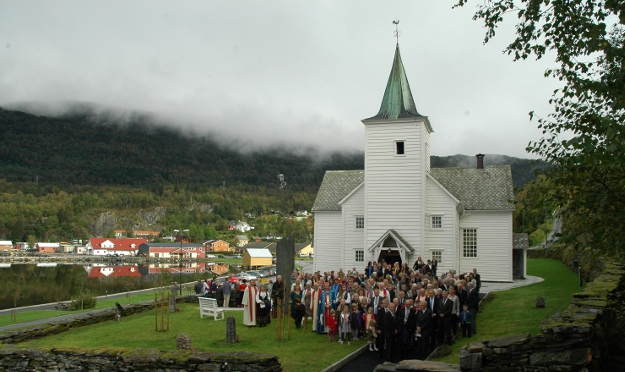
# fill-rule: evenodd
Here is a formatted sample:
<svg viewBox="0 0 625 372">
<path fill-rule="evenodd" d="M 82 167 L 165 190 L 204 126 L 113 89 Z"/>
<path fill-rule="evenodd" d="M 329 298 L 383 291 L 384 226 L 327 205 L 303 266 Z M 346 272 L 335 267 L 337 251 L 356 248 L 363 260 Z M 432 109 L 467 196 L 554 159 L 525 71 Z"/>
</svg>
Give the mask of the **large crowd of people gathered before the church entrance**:
<svg viewBox="0 0 625 372">
<path fill-rule="evenodd" d="M 369 350 L 389 361 L 425 359 L 437 345 L 477 333 L 476 269 L 439 276 L 435 259 L 419 257 L 412 267 L 369 262 L 363 271 L 294 271 L 291 282 L 288 290 L 281 276 L 268 287 L 241 283 L 244 325 L 270 323 L 286 300 L 296 328 L 308 329 L 310 322 L 313 332 L 341 344 L 366 339 Z"/>
</svg>

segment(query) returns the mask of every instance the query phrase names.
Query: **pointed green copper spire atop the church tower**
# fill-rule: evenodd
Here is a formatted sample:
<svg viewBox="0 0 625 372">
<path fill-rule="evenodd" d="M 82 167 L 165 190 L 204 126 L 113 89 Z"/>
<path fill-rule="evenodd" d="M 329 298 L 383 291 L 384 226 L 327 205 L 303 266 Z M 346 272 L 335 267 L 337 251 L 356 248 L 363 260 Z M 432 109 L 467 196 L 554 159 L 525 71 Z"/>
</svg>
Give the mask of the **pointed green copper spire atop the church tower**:
<svg viewBox="0 0 625 372">
<path fill-rule="evenodd" d="M 393 60 L 393 68 L 391 75 L 386 83 L 384 98 L 378 114 L 367 120 L 379 119 L 402 119 L 410 117 L 422 117 L 417 112 L 417 106 L 414 104 L 410 85 L 404 71 L 404 64 L 399 55 L 399 45 L 395 48 L 395 59 Z"/>
</svg>

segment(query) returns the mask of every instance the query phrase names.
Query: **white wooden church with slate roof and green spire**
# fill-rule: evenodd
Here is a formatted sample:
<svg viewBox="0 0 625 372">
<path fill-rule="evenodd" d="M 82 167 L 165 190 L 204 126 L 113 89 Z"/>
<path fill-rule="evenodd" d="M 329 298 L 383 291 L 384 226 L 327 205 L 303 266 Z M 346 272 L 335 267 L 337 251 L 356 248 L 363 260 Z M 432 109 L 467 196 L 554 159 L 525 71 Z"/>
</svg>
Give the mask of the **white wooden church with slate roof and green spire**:
<svg viewBox="0 0 625 372">
<path fill-rule="evenodd" d="M 417 111 L 399 46 L 380 111 L 362 123 L 365 169 L 326 171 L 312 209 L 315 271 L 382 260 L 412 267 L 421 256 L 436 257 L 439 273 L 525 277 L 510 166 L 485 167 L 478 154 L 475 167 L 430 168 L 432 124 Z"/>
</svg>

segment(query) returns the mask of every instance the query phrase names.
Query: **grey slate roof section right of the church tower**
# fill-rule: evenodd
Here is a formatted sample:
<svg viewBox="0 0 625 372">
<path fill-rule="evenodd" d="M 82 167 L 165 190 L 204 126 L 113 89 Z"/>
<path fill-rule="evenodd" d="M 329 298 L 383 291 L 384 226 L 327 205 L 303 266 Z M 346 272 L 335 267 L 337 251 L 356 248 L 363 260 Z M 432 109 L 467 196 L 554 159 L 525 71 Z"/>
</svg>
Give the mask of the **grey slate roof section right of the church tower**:
<svg viewBox="0 0 625 372">
<path fill-rule="evenodd" d="M 514 209 L 512 170 L 509 165 L 477 168 L 432 168 L 430 174 L 465 210 Z"/>
</svg>

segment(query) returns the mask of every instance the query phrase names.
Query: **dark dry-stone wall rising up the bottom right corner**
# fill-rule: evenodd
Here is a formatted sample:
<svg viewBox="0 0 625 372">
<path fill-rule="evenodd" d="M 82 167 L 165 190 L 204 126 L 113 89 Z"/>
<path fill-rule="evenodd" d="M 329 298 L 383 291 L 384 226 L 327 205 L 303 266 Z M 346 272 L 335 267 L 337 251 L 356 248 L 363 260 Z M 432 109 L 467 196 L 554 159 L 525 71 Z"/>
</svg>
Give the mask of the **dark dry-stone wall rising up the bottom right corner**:
<svg viewBox="0 0 625 372">
<path fill-rule="evenodd" d="M 625 268 L 603 271 L 569 308 L 529 333 L 471 343 L 460 352 L 463 371 L 616 371 L 625 365 Z M 547 299 L 548 300 L 548 299 Z"/>
</svg>

